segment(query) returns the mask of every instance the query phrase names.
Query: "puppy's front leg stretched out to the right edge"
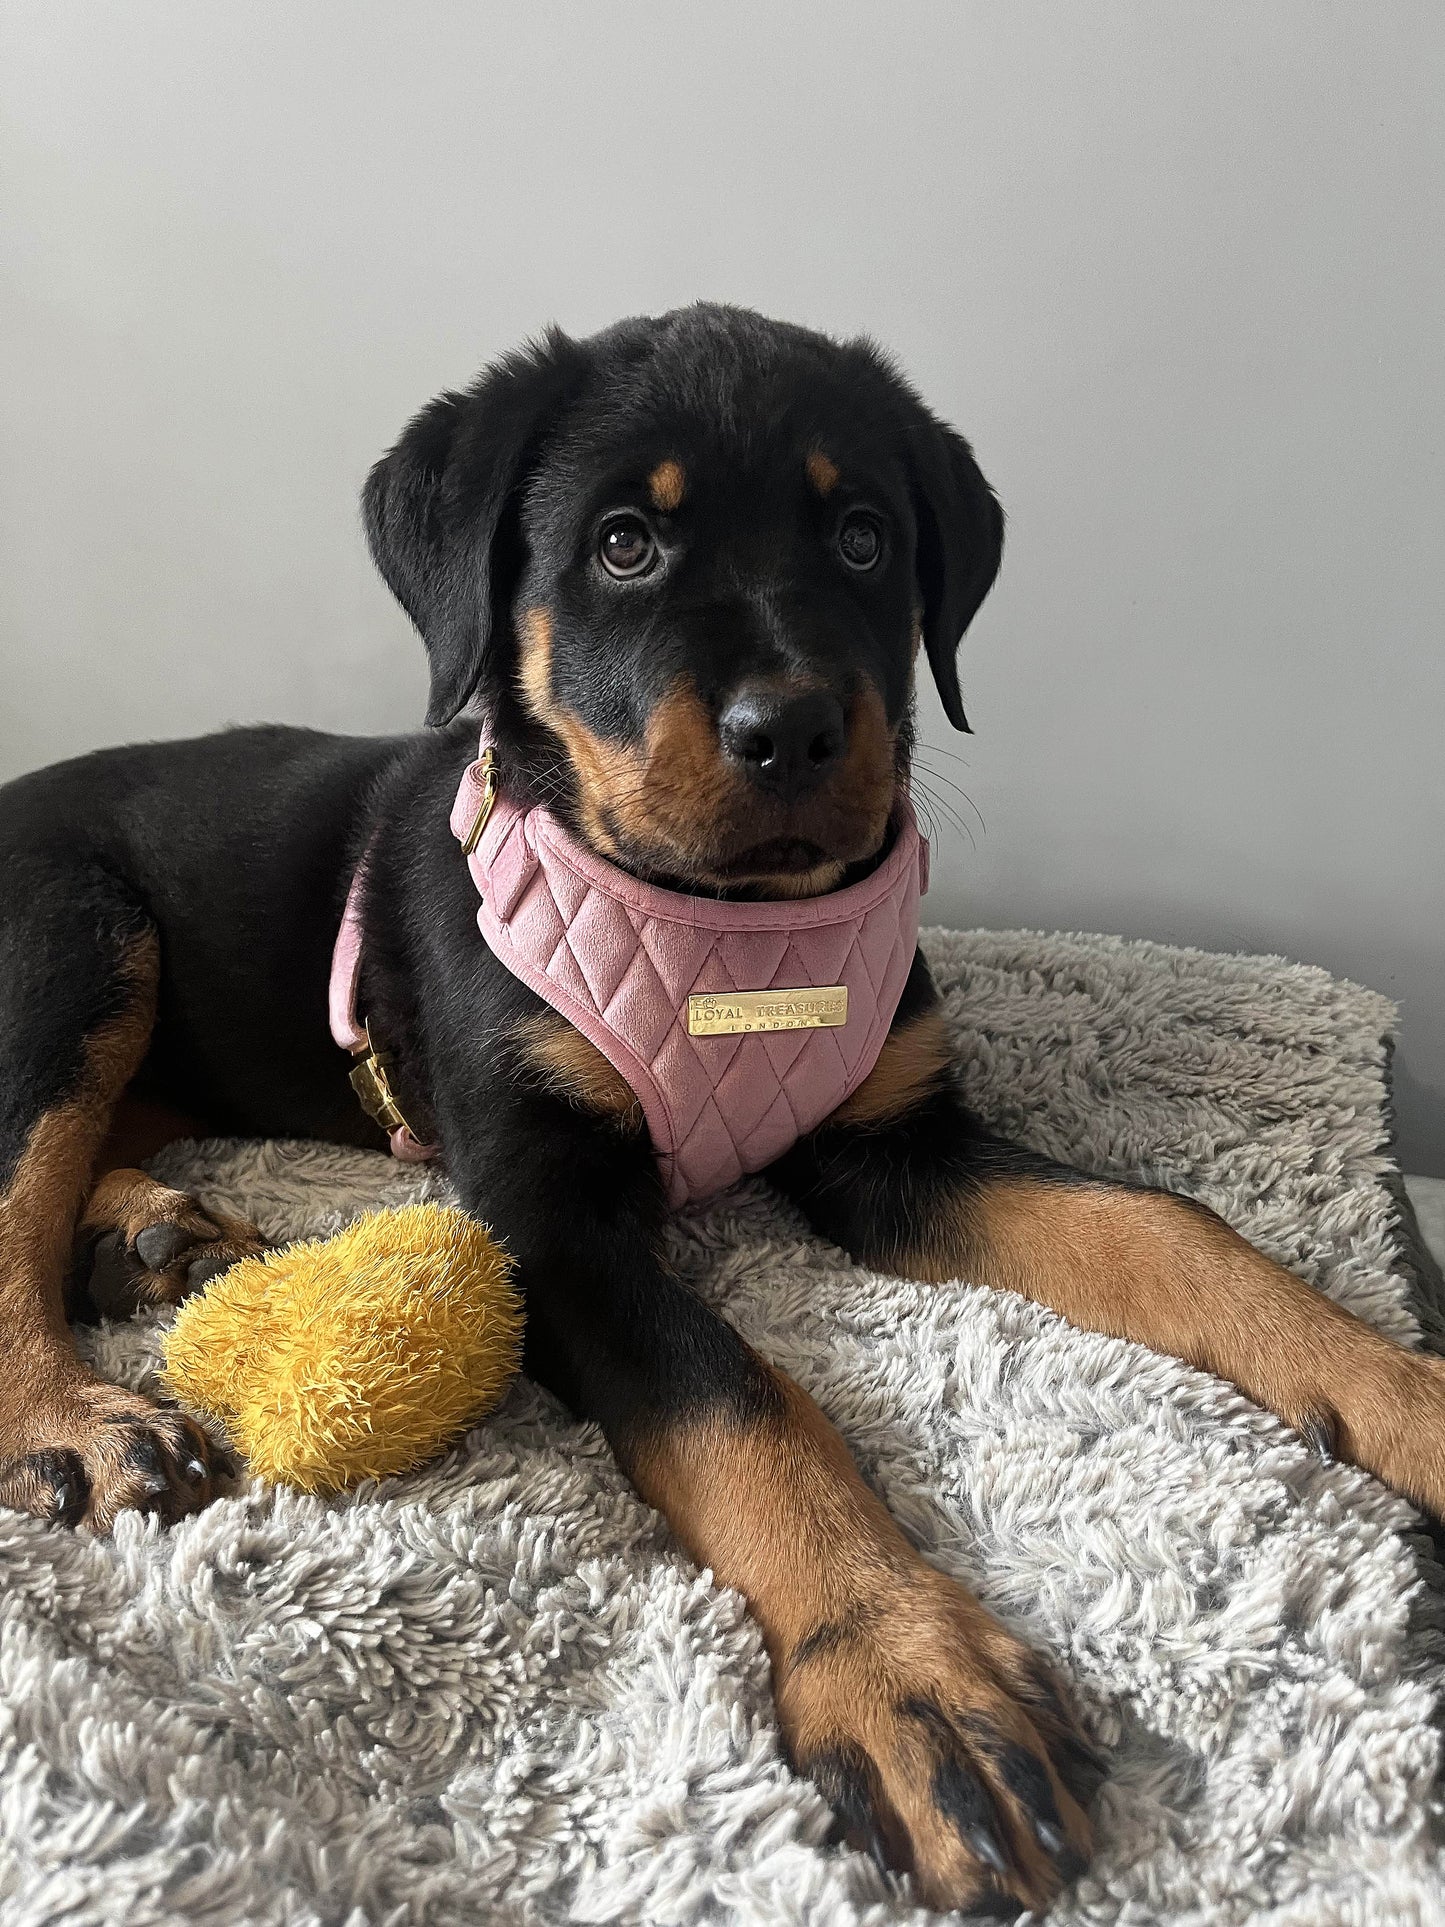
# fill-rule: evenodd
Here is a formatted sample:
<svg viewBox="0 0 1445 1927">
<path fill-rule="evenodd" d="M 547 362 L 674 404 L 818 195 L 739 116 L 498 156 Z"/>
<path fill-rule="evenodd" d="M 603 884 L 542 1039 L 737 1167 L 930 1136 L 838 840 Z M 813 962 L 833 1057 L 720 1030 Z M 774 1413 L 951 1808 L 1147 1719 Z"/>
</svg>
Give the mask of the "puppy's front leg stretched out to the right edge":
<svg viewBox="0 0 1445 1927">
<path fill-rule="evenodd" d="M 1017 1291 L 1171 1353 L 1445 1517 L 1445 1360 L 1383 1337 L 1191 1199 L 988 1135 L 913 979 L 873 1077 L 773 1175 L 861 1262 Z"/>
</svg>

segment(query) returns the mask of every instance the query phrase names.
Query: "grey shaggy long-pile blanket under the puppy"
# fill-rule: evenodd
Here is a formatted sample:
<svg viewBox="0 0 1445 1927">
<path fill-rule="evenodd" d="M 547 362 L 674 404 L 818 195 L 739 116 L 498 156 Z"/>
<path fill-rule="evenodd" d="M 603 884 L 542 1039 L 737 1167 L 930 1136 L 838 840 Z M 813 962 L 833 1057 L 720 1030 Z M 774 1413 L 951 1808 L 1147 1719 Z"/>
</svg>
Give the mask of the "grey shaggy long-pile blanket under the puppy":
<svg viewBox="0 0 1445 1927">
<path fill-rule="evenodd" d="M 927 944 L 998 1127 L 1202 1197 L 1416 1341 L 1383 998 L 1098 937 Z M 158 1168 L 274 1239 L 445 1195 L 316 1145 Z M 1052 1921 L 1445 1921 L 1441 1640 L 1403 1501 L 1175 1360 L 857 1270 L 763 1183 L 674 1245 L 927 1557 L 1073 1682 L 1112 1779 Z M 137 1320 L 91 1351 L 144 1386 L 156 1343 Z M 532 1386 L 337 1503 L 256 1484 L 112 1542 L 0 1513 L 0 1578 L 8 1927 L 933 1917 L 825 1844 L 742 1601 Z"/>
</svg>

